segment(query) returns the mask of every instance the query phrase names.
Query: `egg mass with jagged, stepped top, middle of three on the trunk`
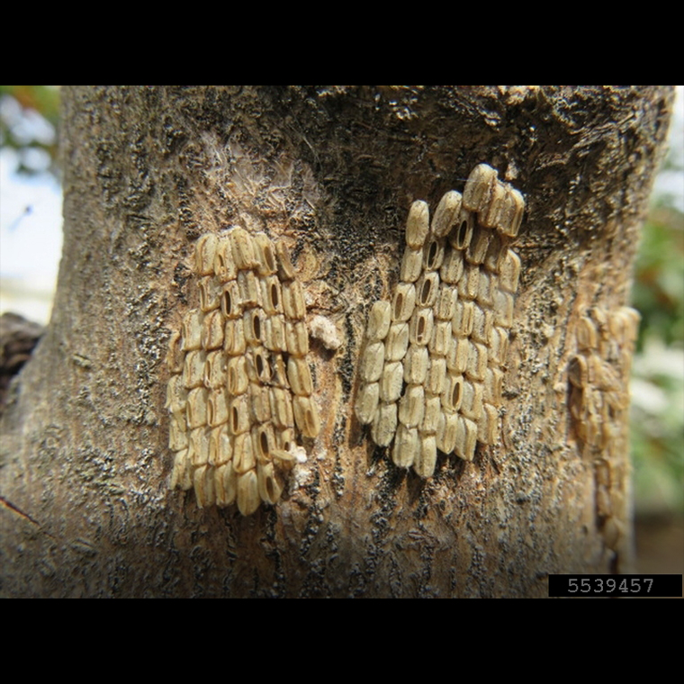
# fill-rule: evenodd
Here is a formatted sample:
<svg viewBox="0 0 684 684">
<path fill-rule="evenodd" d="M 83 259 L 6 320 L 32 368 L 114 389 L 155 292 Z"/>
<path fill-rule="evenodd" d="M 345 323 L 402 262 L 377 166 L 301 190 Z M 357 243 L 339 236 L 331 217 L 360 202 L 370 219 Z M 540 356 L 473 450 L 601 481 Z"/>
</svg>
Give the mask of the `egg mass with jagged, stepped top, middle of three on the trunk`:
<svg viewBox="0 0 684 684">
<path fill-rule="evenodd" d="M 520 275 L 509 244 L 524 211 L 522 194 L 486 164 L 432 216 L 427 202 L 411 204 L 400 283 L 369 313 L 356 417 L 420 477 L 435 472 L 437 449 L 472 461 L 477 442 L 499 439 Z"/>
</svg>

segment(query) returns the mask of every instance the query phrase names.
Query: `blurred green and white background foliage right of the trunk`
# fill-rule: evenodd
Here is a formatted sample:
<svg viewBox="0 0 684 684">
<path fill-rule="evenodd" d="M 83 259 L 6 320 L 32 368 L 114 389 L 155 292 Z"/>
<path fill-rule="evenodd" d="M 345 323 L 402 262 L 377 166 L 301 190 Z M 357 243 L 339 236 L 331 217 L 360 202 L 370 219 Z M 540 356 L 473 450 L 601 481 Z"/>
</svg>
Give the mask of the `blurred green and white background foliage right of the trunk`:
<svg viewBox="0 0 684 684">
<path fill-rule="evenodd" d="M 681 121 L 673 121 L 673 125 L 681 125 Z M 663 170 L 678 174 L 684 193 L 684 150 L 671 149 Z M 681 515 L 684 513 L 684 213 L 670 194 L 653 195 L 636 259 L 632 299 L 642 315 L 632 375 L 636 513 Z"/>
</svg>

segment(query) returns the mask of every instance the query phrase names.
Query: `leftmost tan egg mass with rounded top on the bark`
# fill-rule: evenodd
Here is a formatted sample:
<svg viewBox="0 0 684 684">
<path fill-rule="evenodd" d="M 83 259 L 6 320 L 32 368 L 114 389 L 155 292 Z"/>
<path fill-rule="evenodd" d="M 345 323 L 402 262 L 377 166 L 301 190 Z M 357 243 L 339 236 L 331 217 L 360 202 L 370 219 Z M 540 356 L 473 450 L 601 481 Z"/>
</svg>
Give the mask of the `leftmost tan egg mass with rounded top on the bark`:
<svg viewBox="0 0 684 684">
<path fill-rule="evenodd" d="M 172 333 L 167 356 L 171 488 L 193 488 L 200 508 L 237 502 L 248 516 L 280 499 L 293 427 L 320 432 L 302 285 L 282 243 L 237 227 L 197 240 L 193 273 L 199 307 Z M 389 317 L 389 305 L 378 310 Z M 389 318 L 378 325 L 374 334 L 386 334 Z M 369 376 L 378 363 L 370 356 Z M 365 394 L 374 414 L 377 389 Z"/>
</svg>

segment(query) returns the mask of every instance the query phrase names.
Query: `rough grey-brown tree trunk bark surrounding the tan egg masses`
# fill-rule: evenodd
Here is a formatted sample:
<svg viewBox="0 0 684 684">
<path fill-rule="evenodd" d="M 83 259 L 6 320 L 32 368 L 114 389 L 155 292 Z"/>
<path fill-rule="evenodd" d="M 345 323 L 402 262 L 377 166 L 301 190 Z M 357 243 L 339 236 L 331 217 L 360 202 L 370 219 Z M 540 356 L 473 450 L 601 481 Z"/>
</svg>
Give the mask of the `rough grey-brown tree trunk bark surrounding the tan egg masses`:
<svg viewBox="0 0 684 684">
<path fill-rule="evenodd" d="M 567 371 L 581 316 L 628 302 L 671 102 L 660 86 L 65 90 L 58 291 L 2 422 L 2 594 L 541 597 L 549 573 L 624 568 L 628 507 L 607 539 Z M 481 162 L 527 199 L 502 433 L 422 481 L 354 417 L 359 349 L 410 202 L 434 207 Z M 166 340 L 196 297 L 195 239 L 236 222 L 285 239 L 309 315 L 342 342 L 311 338 L 323 429 L 284 499 L 247 518 L 167 489 Z"/>
</svg>

